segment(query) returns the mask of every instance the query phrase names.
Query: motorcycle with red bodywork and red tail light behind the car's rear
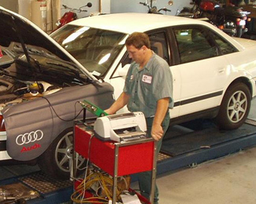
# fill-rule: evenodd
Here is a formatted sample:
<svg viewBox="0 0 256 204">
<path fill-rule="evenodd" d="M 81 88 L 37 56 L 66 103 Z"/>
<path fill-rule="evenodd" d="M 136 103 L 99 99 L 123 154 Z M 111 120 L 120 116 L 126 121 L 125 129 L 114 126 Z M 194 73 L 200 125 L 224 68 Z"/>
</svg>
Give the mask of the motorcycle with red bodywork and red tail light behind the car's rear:
<svg viewBox="0 0 256 204">
<path fill-rule="evenodd" d="M 243 11 L 242 8 L 236 5 L 221 5 L 214 0 L 192 0 L 193 7 L 184 8 L 178 16 L 186 16 L 191 18 L 206 17 L 211 24 L 219 27 L 228 35 L 240 38 L 243 33 L 247 32 L 247 21 L 250 18 L 247 16 L 250 12 Z"/>
</svg>

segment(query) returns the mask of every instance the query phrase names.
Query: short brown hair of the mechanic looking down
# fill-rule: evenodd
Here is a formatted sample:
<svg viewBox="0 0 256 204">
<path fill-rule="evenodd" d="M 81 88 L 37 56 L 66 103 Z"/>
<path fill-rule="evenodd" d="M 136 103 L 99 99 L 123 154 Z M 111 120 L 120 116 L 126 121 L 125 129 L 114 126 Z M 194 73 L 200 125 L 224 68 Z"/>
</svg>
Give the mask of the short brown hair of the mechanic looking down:
<svg viewBox="0 0 256 204">
<path fill-rule="evenodd" d="M 136 49 L 141 49 L 142 46 L 146 46 L 150 49 L 150 38 L 146 33 L 134 32 L 126 39 L 125 45 L 135 46 Z"/>
</svg>

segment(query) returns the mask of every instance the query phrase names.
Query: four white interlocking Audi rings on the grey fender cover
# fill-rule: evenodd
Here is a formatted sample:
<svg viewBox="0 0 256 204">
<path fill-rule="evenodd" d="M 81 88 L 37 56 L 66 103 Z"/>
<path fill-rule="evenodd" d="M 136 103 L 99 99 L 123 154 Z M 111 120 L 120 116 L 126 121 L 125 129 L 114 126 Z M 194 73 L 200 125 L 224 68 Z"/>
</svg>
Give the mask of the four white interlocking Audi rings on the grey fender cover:
<svg viewBox="0 0 256 204">
<path fill-rule="evenodd" d="M 16 144 L 18 145 L 28 144 L 28 143 L 41 140 L 42 138 L 43 138 L 43 131 L 38 129 L 30 133 L 24 133 L 24 134 L 18 135 L 16 138 Z"/>
</svg>

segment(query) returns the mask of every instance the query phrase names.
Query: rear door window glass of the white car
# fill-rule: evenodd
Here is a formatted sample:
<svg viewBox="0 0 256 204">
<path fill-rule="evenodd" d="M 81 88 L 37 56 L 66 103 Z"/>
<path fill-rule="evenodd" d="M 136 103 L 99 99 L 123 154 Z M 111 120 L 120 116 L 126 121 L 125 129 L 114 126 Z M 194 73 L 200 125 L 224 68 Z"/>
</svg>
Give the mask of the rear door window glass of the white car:
<svg viewBox="0 0 256 204">
<path fill-rule="evenodd" d="M 187 63 L 217 56 L 217 46 L 200 27 L 174 28 L 180 62 Z"/>
</svg>

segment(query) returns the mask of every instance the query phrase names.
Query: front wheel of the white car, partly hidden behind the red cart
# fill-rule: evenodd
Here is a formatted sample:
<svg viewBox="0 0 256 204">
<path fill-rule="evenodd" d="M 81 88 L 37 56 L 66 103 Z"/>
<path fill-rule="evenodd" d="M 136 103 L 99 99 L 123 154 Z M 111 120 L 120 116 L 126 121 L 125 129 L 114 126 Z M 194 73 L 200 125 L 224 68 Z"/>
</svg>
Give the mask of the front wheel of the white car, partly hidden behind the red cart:
<svg viewBox="0 0 256 204">
<path fill-rule="evenodd" d="M 72 128 L 65 129 L 49 148 L 40 155 L 38 163 L 40 169 L 50 177 L 57 179 L 69 179 L 73 154 Z M 77 166 L 83 166 L 84 158 L 78 157 Z"/>
</svg>

